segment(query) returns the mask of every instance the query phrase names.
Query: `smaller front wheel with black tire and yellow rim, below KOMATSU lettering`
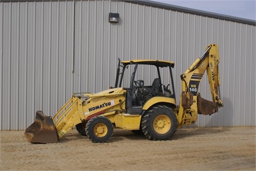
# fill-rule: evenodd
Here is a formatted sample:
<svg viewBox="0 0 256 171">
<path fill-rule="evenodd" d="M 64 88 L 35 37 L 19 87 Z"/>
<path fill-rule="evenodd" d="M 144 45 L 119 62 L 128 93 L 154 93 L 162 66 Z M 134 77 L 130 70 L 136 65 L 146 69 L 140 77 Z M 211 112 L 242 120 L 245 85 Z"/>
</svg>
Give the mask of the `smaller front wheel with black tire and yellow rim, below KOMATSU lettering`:
<svg viewBox="0 0 256 171">
<path fill-rule="evenodd" d="M 114 127 L 108 118 L 95 116 L 87 122 L 85 131 L 92 142 L 104 143 L 113 135 Z"/>
</svg>

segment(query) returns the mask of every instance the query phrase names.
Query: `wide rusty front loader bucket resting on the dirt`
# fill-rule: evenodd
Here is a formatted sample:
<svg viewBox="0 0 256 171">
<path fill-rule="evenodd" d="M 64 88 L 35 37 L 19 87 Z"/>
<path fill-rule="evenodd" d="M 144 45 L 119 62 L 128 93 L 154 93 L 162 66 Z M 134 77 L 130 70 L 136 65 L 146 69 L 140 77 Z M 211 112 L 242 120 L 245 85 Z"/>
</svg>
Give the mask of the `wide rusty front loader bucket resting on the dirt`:
<svg viewBox="0 0 256 171">
<path fill-rule="evenodd" d="M 52 117 L 44 115 L 42 111 L 36 111 L 35 121 L 26 129 L 25 135 L 31 143 L 58 142 L 58 134 Z"/>
</svg>

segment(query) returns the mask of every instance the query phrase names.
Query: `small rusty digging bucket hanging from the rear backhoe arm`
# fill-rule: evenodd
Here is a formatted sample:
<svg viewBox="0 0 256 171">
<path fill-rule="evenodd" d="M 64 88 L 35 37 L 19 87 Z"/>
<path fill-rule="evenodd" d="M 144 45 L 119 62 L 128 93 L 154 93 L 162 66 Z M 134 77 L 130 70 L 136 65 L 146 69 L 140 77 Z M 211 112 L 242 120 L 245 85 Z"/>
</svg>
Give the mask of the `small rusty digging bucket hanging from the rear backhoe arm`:
<svg viewBox="0 0 256 171">
<path fill-rule="evenodd" d="M 203 99 L 198 93 L 197 95 L 197 112 L 198 114 L 211 115 L 218 112 L 218 103 Z"/>
</svg>

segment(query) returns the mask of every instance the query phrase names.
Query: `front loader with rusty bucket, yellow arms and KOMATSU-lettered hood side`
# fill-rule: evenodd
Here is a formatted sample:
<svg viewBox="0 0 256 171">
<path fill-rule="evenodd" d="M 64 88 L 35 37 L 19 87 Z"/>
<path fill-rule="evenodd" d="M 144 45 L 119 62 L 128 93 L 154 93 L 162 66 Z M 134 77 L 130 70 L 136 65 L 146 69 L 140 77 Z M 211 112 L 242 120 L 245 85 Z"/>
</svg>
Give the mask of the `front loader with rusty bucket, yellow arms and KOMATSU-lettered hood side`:
<svg viewBox="0 0 256 171">
<path fill-rule="evenodd" d="M 86 124 L 95 116 L 109 117 L 114 123 L 113 116 L 125 109 L 125 94 L 122 87 L 95 94 L 74 93 L 54 117 L 37 111 L 35 121 L 26 129 L 25 135 L 31 143 L 57 143 L 74 126 Z"/>
</svg>

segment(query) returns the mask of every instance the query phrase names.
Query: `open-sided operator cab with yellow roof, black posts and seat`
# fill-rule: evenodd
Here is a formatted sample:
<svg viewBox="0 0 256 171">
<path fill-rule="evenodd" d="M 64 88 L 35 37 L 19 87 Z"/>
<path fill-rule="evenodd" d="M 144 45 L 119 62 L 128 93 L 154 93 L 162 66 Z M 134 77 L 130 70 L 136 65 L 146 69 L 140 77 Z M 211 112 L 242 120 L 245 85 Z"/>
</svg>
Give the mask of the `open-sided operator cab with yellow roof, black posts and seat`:
<svg viewBox="0 0 256 171">
<path fill-rule="evenodd" d="M 175 99 L 173 67 L 171 61 L 130 60 L 120 64 L 119 60 L 115 87 L 124 87 L 127 91 L 127 113 L 141 113 L 143 105 L 155 96 Z"/>
</svg>

